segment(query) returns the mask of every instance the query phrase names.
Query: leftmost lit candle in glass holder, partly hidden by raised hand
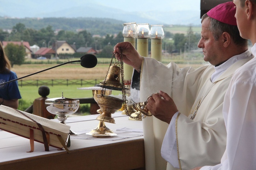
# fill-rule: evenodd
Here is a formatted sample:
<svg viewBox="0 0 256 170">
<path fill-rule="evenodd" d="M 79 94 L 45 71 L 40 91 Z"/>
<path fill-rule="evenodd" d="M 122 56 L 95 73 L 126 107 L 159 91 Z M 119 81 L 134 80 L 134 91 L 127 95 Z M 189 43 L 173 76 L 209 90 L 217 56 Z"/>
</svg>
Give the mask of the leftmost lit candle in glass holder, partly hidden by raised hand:
<svg viewBox="0 0 256 170">
<path fill-rule="evenodd" d="M 130 42 L 133 47 L 136 46 L 136 37 L 138 36 L 138 29 L 136 22 L 124 23 L 123 29 L 124 42 Z M 124 79 L 125 84 L 131 84 L 133 67 L 124 63 Z"/>
</svg>

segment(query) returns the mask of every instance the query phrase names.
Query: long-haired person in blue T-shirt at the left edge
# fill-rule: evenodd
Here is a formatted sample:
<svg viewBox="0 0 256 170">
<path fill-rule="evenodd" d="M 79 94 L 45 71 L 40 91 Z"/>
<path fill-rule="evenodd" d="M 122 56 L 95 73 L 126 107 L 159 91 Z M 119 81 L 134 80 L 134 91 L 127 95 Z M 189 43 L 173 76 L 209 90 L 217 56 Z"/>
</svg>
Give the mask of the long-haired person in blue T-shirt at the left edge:
<svg viewBox="0 0 256 170">
<path fill-rule="evenodd" d="M 0 84 L 16 79 L 17 75 L 11 71 L 11 64 L 5 55 L 2 43 L 0 42 Z M 18 82 L 14 81 L 0 86 L 0 105 L 17 109 L 21 98 Z"/>
</svg>

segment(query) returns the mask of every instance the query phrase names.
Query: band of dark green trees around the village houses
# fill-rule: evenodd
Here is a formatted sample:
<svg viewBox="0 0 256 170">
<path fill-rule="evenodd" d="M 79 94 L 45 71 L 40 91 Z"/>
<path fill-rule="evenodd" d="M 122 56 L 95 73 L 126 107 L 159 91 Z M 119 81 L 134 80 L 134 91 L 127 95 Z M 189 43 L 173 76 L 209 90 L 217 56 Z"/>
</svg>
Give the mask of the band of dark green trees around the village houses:
<svg viewBox="0 0 256 170">
<path fill-rule="evenodd" d="M 96 28 L 97 26 L 95 25 L 91 26 L 91 28 Z M 112 25 L 111 23 L 105 25 L 108 25 L 108 27 L 115 26 L 115 24 Z M 106 27 L 105 30 L 109 30 L 108 27 Z M 97 28 L 100 29 L 100 27 Z M 124 37 L 122 34 L 123 26 L 116 28 L 117 29 L 115 33 L 106 33 L 103 36 L 93 37 L 94 34 L 85 29 L 79 32 L 61 29 L 56 32 L 51 25 L 42 27 L 40 29 L 33 29 L 27 28 L 25 24 L 19 22 L 12 27 L 11 33 L 8 33 L 7 31 L 4 31 L 0 28 L 0 41 L 27 41 L 31 46 L 35 44 L 39 47 L 49 48 L 51 48 L 53 43 L 55 43 L 57 40 L 66 41 L 69 44 L 74 44 L 77 49 L 79 47 L 85 46 L 93 47 L 95 50 L 101 51 L 97 54 L 97 57 L 106 58 L 112 56 L 113 47 L 116 43 L 124 41 Z M 192 27 L 189 26 L 186 35 L 182 33 L 173 34 L 171 32 L 165 32 L 165 38 L 163 38 L 162 47 L 163 50 L 168 53 L 172 53 L 173 51 L 189 51 L 191 49 L 197 48 L 197 43 L 199 39 L 200 35 L 195 34 L 192 30 Z M 151 40 L 149 39 L 149 51 L 151 50 L 150 43 Z M 14 54 L 14 52 L 9 51 L 7 53 L 9 53 L 10 58 L 11 56 L 18 55 L 19 52 L 16 52 L 16 54 Z M 15 59 L 11 62 L 14 64 L 20 63 L 17 62 L 17 57 L 15 57 Z"/>
</svg>

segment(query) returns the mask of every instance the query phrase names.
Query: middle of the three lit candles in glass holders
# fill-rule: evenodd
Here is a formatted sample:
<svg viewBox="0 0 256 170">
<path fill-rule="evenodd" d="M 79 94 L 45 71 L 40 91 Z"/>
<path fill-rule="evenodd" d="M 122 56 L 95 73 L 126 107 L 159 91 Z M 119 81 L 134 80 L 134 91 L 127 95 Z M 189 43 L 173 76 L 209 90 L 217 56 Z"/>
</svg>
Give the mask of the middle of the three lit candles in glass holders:
<svg viewBox="0 0 256 170">
<path fill-rule="evenodd" d="M 148 38 L 150 38 L 150 29 L 148 24 L 137 24 L 139 35 L 137 38 L 137 51 L 143 57 L 148 57 Z"/>
</svg>

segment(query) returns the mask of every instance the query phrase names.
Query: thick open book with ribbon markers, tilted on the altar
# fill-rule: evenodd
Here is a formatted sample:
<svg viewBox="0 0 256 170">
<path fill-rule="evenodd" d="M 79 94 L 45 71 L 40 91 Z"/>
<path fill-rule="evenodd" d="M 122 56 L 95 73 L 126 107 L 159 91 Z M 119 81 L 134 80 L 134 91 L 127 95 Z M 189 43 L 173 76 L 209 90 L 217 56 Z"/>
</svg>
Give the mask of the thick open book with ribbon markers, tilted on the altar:
<svg viewBox="0 0 256 170">
<path fill-rule="evenodd" d="M 1 105 L 0 129 L 30 139 L 30 145 L 37 141 L 62 149 L 66 148 L 70 126 Z"/>
</svg>

